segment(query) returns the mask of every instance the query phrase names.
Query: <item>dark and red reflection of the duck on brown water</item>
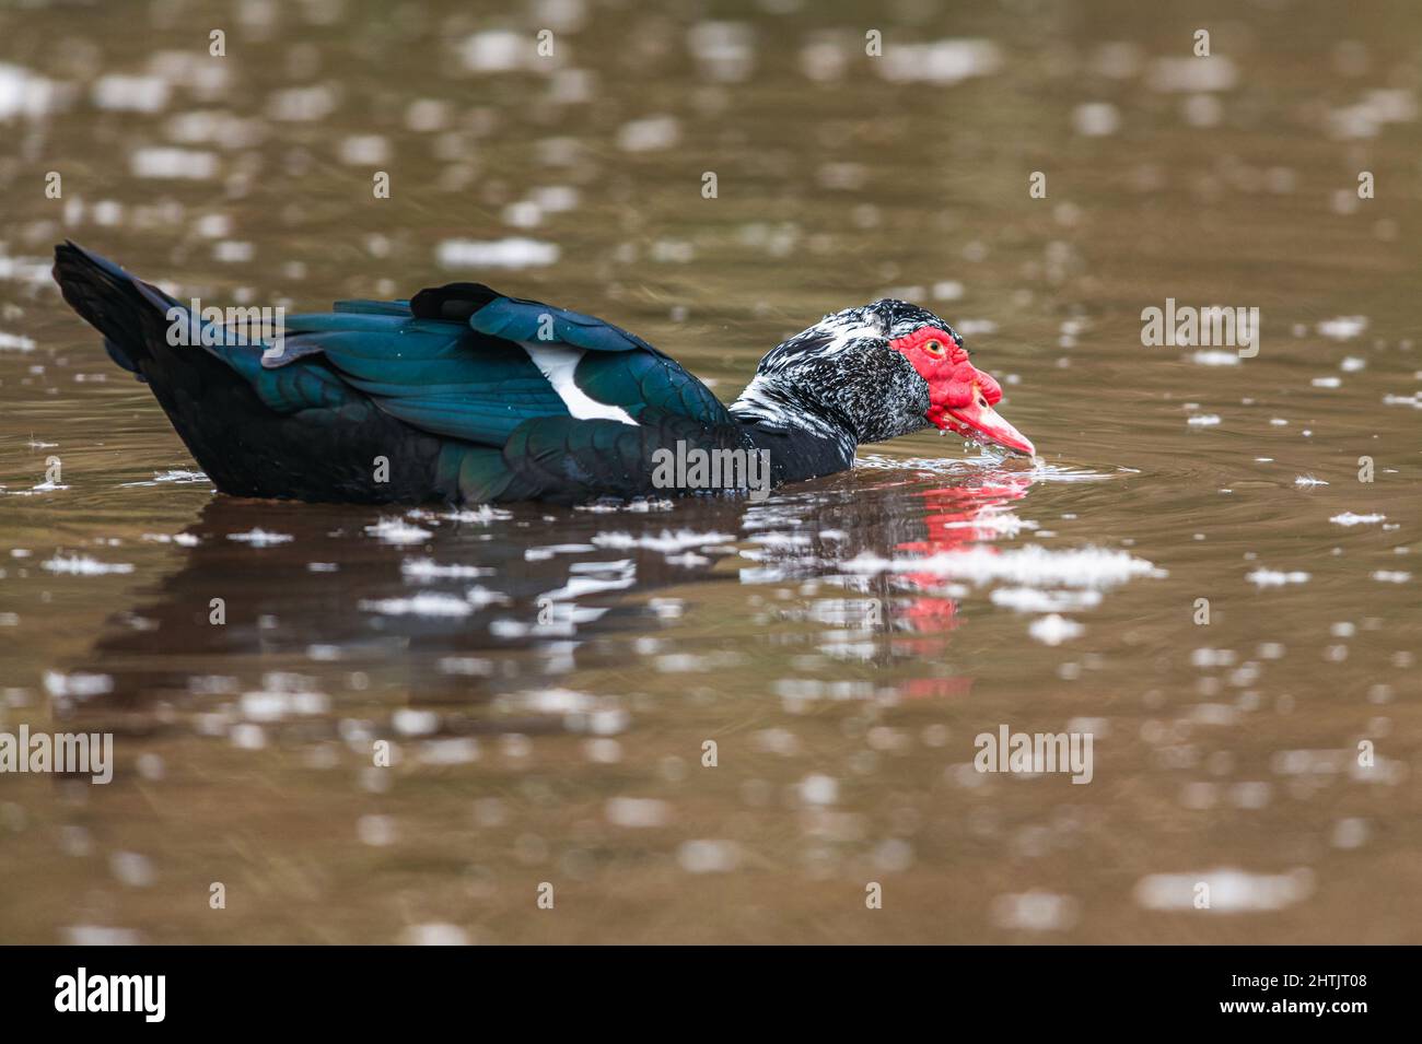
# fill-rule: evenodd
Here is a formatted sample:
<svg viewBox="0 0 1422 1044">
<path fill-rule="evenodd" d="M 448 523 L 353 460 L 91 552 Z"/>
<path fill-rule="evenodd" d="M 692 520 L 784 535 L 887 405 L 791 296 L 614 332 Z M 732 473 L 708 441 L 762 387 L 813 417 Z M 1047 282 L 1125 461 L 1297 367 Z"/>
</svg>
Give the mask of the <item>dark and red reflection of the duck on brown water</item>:
<svg viewBox="0 0 1422 1044">
<path fill-rule="evenodd" d="M 926 477 L 866 472 L 761 504 L 700 497 L 647 511 L 510 506 L 398 518 L 218 497 L 185 530 L 182 568 L 117 614 L 80 669 L 112 678 L 100 702 L 108 709 L 202 692 L 216 673 L 313 663 L 468 700 L 599 666 L 614 643 L 597 638 L 668 629 L 675 641 L 664 618 L 680 602 L 658 591 L 803 581 L 876 607 L 839 621 L 872 639 L 870 659 L 931 656 L 960 622 L 958 588 L 934 572 L 865 575 L 846 562 L 990 543 L 1011 528 L 1003 506 L 1032 480 L 1003 469 L 966 470 L 958 484 L 926 487 Z M 624 642 L 616 648 L 626 656 Z M 967 685 L 929 678 L 910 695 Z"/>
</svg>

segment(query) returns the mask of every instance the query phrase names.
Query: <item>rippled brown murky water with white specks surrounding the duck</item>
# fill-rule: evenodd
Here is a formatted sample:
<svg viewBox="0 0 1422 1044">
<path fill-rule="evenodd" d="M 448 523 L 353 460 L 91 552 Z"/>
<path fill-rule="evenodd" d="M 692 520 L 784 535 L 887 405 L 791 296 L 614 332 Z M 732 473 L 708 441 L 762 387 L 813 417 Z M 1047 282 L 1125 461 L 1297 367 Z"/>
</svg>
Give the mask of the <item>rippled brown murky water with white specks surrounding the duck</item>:
<svg viewBox="0 0 1422 1044">
<path fill-rule="evenodd" d="M 0 732 L 117 757 L 0 776 L 0 940 L 1422 942 L 1422 10 L 501 7 L 0 13 Z M 218 497 L 65 236 L 225 303 L 488 278 L 724 398 L 893 293 L 1042 456 Z M 1143 347 L 1166 298 L 1258 354 Z M 1004 724 L 1089 733 L 1091 783 L 975 771 Z"/>
</svg>

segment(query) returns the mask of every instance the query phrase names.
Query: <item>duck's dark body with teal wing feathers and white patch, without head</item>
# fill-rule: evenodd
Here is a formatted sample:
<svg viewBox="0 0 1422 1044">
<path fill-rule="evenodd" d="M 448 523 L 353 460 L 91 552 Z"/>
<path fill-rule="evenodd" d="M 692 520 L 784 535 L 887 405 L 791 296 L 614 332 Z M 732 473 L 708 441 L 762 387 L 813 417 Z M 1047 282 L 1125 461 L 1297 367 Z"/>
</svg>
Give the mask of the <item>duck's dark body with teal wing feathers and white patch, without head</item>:
<svg viewBox="0 0 1422 1044">
<path fill-rule="evenodd" d="M 148 381 L 226 493 L 300 500 L 582 501 L 663 496 L 658 449 L 744 449 L 739 425 L 674 359 L 589 315 L 482 284 L 286 317 L 284 335 L 206 325 L 65 244 L 65 300 Z"/>
</svg>

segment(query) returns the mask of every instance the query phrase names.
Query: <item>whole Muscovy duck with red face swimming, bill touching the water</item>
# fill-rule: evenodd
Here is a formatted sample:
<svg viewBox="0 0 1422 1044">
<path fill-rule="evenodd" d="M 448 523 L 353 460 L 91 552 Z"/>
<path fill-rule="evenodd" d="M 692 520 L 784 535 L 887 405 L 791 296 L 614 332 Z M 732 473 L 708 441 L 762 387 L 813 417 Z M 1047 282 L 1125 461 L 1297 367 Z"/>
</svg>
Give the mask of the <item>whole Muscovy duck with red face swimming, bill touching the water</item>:
<svg viewBox="0 0 1422 1044">
<path fill-rule="evenodd" d="M 634 334 L 479 283 L 338 301 L 259 339 L 203 322 L 74 243 L 55 247 L 54 278 L 235 496 L 582 503 L 695 491 L 654 482 L 654 455 L 678 443 L 764 450 L 779 486 L 848 469 L 859 443 L 929 425 L 1035 453 L 994 412 L 1001 388 L 963 338 L 904 301 L 825 317 L 761 359 L 727 408 Z M 191 347 L 175 344 L 175 328 L 195 334 Z"/>
</svg>

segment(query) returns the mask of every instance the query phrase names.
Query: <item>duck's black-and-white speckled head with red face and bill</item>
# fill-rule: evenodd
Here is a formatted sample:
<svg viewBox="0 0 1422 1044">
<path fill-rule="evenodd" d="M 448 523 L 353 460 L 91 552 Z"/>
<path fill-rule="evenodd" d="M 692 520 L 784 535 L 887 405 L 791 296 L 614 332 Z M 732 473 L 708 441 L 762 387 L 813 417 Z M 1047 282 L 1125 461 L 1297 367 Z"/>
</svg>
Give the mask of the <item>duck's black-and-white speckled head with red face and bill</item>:
<svg viewBox="0 0 1422 1044">
<path fill-rule="evenodd" d="M 884 298 L 826 315 L 761 359 L 732 410 L 762 423 L 813 419 L 856 443 L 884 442 L 927 426 L 1035 455 L 993 408 L 1003 389 L 968 361 L 941 318 Z"/>
</svg>

